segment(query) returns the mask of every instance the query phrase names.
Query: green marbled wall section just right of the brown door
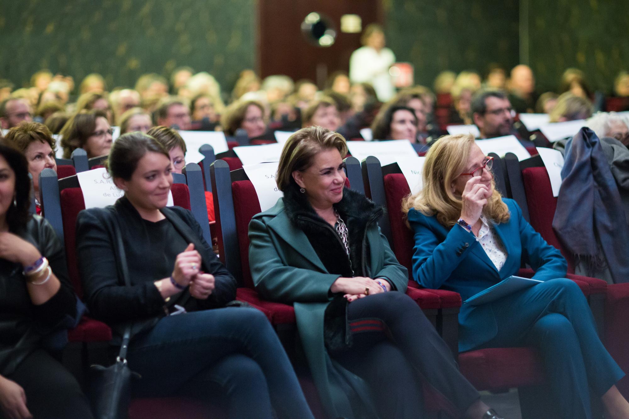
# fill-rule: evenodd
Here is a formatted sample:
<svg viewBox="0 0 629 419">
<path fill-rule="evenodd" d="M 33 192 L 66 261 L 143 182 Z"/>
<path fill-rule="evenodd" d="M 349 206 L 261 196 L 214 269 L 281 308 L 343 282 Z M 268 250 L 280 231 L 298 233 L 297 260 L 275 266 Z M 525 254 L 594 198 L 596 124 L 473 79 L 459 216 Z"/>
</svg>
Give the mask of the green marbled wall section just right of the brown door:
<svg viewBox="0 0 629 419">
<path fill-rule="evenodd" d="M 442 70 L 518 64 L 517 0 L 384 0 L 387 44 L 432 86 Z"/>
</svg>

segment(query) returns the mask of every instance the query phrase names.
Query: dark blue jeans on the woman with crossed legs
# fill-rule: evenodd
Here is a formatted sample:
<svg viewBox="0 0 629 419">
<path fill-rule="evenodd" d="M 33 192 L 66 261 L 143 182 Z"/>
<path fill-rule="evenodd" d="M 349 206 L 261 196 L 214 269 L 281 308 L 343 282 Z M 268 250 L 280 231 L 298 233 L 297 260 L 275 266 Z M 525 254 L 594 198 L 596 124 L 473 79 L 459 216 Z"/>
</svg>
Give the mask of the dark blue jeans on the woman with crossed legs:
<svg viewBox="0 0 629 419">
<path fill-rule="evenodd" d="M 252 308 L 168 316 L 134 337 L 129 366 L 136 396 L 226 399 L 230 418 L 313 418 L 284 348 Z"/>
</svg>

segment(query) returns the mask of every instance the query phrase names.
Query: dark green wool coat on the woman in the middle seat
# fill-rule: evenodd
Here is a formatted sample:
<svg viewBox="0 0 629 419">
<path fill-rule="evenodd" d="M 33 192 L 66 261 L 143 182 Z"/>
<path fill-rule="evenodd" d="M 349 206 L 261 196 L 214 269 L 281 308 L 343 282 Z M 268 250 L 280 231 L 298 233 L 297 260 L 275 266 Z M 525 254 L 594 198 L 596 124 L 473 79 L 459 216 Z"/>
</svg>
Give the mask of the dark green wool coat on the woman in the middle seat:
<svg viewBox="0 0 629 419">
<path fill-rule="evenodd" d="M 341 275 L 326 271 L 308 237 L 291 221 L 284 199 L 280 198 L 270 210 L 255 215 L 249 224 L 249 264 L 255 288 L 264 299 L 293 304 L 299 337 L 328 415 L 331 418 L 374 417 L 375 410 L 370 405 L 364 381 L 332 360 L 325 347 L 324 314 L 333 299 L 330 286 Z M 350 229 L 354 224 L 352 217 L 381 211 L 364 195 L 347 188 L 337 208 L 345 210 Z M 311 207 L 304 210 L 312 211 Z M 369 249 L 365 257 L 368 271 L 365 276 L 385 278 L 392 290 L 405 293 L 408 271 L 396 260 L 376 221 L 368 223 L 360 237 L 368 242 Z M 353 398 L 348 396 L 352 393 Z M 355 403 L 361 403 L 371 412 L 353 411 Z"/>
</svg>

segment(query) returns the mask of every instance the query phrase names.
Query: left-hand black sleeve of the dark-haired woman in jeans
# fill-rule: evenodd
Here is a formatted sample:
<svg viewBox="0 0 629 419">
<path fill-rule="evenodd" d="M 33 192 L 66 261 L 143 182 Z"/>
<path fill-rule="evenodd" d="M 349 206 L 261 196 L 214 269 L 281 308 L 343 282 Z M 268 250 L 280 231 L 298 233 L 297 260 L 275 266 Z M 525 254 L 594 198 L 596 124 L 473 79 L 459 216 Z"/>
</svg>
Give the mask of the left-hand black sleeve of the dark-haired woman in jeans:
<svg viewBox="0 0 629 419">
<path fill-rule="evenodd" d="M 87 307 L 94 317 L 112 322 L 163 315 L 164 299 L 153 282 L 128 287 L 118 277 L 105 211 L 91 208 L 77 217 L 77 260 Z"/>
</svg>

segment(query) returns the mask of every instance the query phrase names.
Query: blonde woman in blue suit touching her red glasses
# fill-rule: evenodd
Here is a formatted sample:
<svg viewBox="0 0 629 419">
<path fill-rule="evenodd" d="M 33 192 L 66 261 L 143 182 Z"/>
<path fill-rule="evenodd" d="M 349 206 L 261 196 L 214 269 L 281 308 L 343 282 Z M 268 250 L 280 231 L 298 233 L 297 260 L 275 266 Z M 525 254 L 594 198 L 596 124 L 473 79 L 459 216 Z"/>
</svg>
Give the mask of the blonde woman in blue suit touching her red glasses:
<svg viewBox="0 0 629 419">
<path fill-rule="evenodd" d="M 494 189 L 492 163 L 472 135 L 448 135 L 430 148 L 423 190 L 403 204 L 415 234 L 413 279 L 465 300 L 515 275 L 524 260 L 544 282 L 491 303 L 463 304 L 459 350 L 537 347 L 560 417 L 591 418 L 592 391 L 606 418 L 629 418 L 615 386 L 625 374 L 601 343 L 579 286 L 564 278 L 564 257 Z"/>
</svg>

